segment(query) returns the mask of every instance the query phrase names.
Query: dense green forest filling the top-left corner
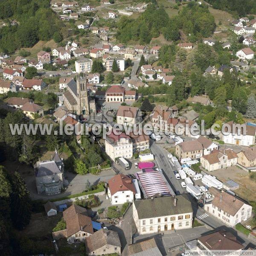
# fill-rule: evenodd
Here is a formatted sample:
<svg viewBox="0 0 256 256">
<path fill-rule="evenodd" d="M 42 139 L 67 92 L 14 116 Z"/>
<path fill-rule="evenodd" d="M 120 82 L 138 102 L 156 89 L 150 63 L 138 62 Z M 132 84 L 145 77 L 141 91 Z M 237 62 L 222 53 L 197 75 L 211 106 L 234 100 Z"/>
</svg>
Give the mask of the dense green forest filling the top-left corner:
<svg viewBox="0 0 256 256">
<path fill-rule="evenodd" d="M 32 47 L 38 40 L 48 41 L 63 23 L 49 8 L 49 0 L 2 0 L 0 18 L 7 26 L 0 29 L 0 51 L 12 53 Z M 17 25 L 11 25 L 15 20 Z"/>
</svg>

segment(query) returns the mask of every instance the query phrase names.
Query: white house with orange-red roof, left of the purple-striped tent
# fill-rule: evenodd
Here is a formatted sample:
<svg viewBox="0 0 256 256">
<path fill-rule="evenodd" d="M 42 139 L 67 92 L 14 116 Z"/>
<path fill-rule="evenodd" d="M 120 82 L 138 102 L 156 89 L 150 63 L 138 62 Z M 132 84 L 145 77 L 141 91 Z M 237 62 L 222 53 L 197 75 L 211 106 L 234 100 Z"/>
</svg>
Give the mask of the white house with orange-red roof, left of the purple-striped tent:
<svg viewBox="0 0 256 256">
<path fill-rule="evenodd" d="M 134 201 L 136 189 L 132 179 L 126 175 L 118 174 L 108 180 L 108 197 L 111 204 L 124 204 Z"/>
</svg>

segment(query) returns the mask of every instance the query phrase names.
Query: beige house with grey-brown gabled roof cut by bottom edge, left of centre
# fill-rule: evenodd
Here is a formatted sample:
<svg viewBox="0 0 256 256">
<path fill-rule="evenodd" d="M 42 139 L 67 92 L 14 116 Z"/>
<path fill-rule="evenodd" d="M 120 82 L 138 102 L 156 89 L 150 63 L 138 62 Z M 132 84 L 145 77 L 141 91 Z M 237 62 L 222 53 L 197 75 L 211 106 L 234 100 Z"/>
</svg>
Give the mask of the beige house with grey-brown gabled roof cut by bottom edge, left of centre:
<svg viewBox="0 0 256 256">
<path fill-rule="evenodd" d="M 87 255 L 105 255 L 117 253 L 121 255 L 121 243 L 118 233 L 101 229 L 84 239 Z"/>
</svg>

